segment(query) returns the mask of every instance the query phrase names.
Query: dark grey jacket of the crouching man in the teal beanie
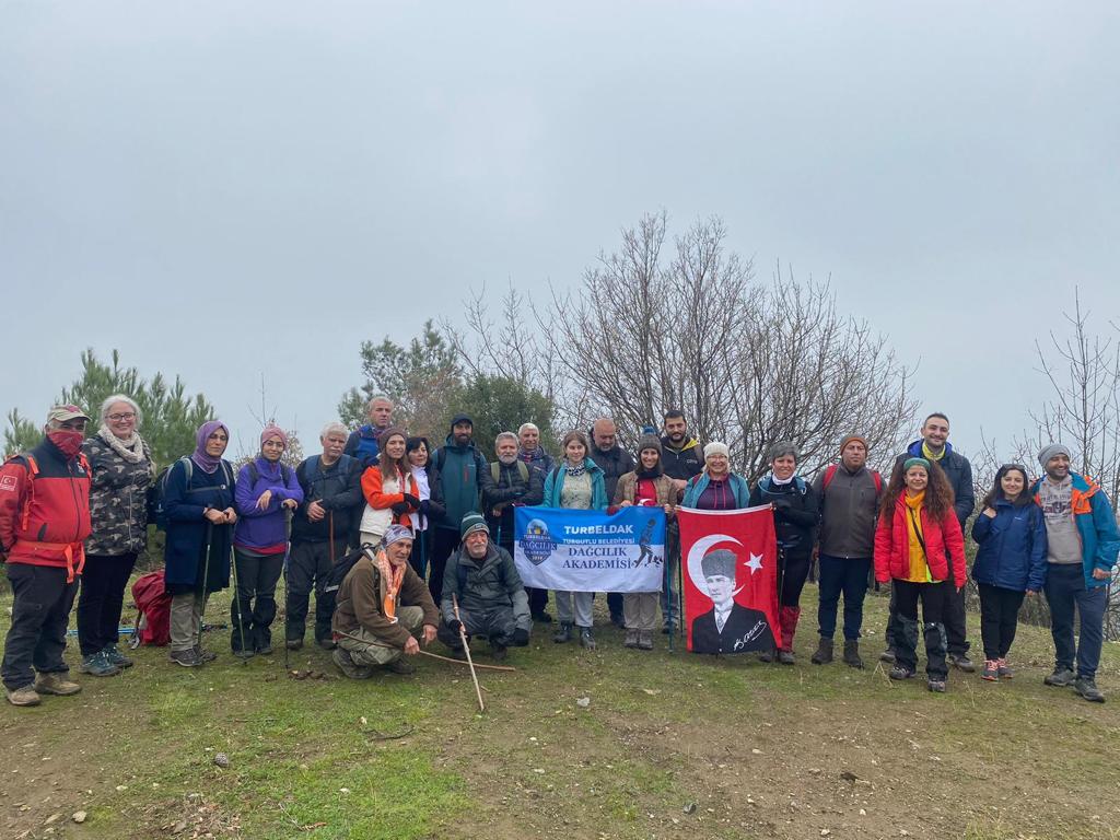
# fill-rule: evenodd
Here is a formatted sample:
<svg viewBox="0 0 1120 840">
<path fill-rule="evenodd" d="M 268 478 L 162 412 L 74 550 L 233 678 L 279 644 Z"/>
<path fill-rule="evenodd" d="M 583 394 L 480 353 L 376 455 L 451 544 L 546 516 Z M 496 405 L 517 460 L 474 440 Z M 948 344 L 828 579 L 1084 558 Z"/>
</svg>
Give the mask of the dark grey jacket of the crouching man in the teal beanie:
<svg viewBox="0 0 1120 840">
<path fill-rule="evenodd" d="M 529 596 L 525 595 L 517 567 L 510 552 L 498 548 L 493 541 L 487 545 L 482 564 L 470 558 L 463 544 L 448 558 L 444 570 L 444 595 L 439 604 L 446 622 L 455 618 L 452 594 L 464 612 L 485 613 L 512 608 L 517 629 L 532 629 Z"/>
</svg>

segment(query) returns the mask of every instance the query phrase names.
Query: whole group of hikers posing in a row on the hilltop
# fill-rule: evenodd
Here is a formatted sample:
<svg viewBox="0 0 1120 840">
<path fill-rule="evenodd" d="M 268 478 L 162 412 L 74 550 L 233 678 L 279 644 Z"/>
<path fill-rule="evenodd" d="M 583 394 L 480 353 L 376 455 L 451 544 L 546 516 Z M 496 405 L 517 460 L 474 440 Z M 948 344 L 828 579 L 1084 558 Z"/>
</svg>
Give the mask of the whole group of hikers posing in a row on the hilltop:
<svg viewBox="0 0 1120 840">
<path fill-rule="evenodd" d="M 43 440 L 0 468 L 0 551 L 13 592 L 2 664 L 9 702 L 34 706 L 41 694 L 81 690 L 63 657 L 75 598 L 81 671 L 111 676 L 133 664 L 118 646 L 119 624 L 152 521 L 166 532 L 169 656 L 186 668 L 215 659 L 202 644 L 203 616 L 208 597 L 227 588 L 231 577 L 230 645 L 245 659 L 272 653 L 281 575 L 283 644 L 304 645 L 314 591 L 315 642 L 354 679 L 379 670 L 409 673 L 410 656 L 435 640 L 458 659 L 472 638 L 485 641 L 501 660 L 510 646 L 529 644 L 534 623 L 554 624 L 558 644 L 578 638 L 595 648 L 592 592 L 556 591 L 553 622 L 549 592 L 522 586 L 513 560 L 514 511 L 522 505 L 664 508 L 660 594 L 606 594 L 626 647 L 655 646 L 659 606 L 663 633 L 680 626 L 679 506 L 771 505 L 782 573 L 775 647 L 762 659 L 796 662 L 801 594 L 815 562 L 814 664 L 833 660 L 842 598 L 842 661 L 864 666 L 859 640 L 874 575 L 890 584 L 880 659 L 892 665 L 892 679 L 916 675 L 920 627 L 930 690 L 945 690 L 951 666 L 976 670 L 963 591 L 964 529 L 976 507 L 972 469 L 949 444 L 942 413 L 925 419 L 921 438 L 897 456 L 887 480 L 867 466 L 867 439 L 849 435 L 837 461 L 811 482 L 797 474 L 797 447 L 775 444 L 769 473 L 752 487 L 731 469 L 727 445 L 701 446 L 680 411 L 664 414 L 663 435 L 641 435 L 636 457 L 618 444 L 615 423 L 599 418 L 589 433 L 564 435 L 559 457 L 545 451 L 536 426 L 523 423 L 497 436 L 493 463 L 466 414 L 452 418 L 446 440 L 432 447 L 393 423 L 388 398 L 375 396 L 367 411 L 368 422 L 353 432 L 337 422 L 325 426 L 321 452 L 295 468 L 283 463 L 287 435 L 268 426 L 260 452 L 235 470 L 224 458 L 230 430 L 213 420 L 198 429 L 190 455 L 159 473 L 130 396 L 106 399 L 88 437 L 92 419 L 83 409 L 53 408 Z M 1101 702 L 1095 673 L 1107 588 L 1120 552 L 1117 521 L 1104 492 L 1071 470 L 1065 446 L 1044 447 L 1038 463 L 1037 479 L 1023 465 L 1000 467 L 972 522 L 981 676 L 1012 675 L 1008 654 L 1019 607 L 1045 592 L 1055 645 L 1046 684 L 1072 685 Z M 713 557 L 703 573 L 734 576 L 734 563 L 724 566 Z M 717 636 L 727 615 L 715 614 Z"/>
</svg>

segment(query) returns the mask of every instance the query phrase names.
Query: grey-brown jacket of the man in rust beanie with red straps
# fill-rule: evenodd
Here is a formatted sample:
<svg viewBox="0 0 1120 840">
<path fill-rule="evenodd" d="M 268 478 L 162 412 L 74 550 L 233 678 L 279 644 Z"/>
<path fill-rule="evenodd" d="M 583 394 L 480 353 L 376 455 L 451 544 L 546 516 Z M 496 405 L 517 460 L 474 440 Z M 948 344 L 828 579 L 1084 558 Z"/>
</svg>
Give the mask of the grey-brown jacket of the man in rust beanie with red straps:
<svg viewBox="0 0 1120 840">
<path fill-rule="evenodd" d="M 867 467 L 849 473 L 841 464 L 825 488 L 824 473 L 822 469 L 813 479 L 813 489 L 821 500 L 818 531 L 821 553 L 844 559 L 872 557 L 879 508 L 875 476 Z"/>
</svg>

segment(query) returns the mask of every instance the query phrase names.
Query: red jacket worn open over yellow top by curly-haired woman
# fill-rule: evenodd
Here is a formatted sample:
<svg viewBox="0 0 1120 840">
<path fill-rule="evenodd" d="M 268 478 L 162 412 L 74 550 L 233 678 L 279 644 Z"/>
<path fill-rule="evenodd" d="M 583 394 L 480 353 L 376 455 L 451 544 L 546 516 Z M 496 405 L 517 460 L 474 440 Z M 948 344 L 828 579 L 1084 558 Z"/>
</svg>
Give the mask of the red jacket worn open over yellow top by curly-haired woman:
<svg viewBox="0 0 1120 840">
<path fill-rule="evenodd" d="M 889 522 L 879 516 L 875 529 L 875 579 L 886 584 L 892 578 L 906 580 L 909 577 L 909 533 L 906 528 L 906 502 L 898 495 L 895 513 Z M 922 508 L 922 538 L 925 540 L 926 562 L 934 580 L 952 580 L 954 586 L 964 586 L 964 535 L 961 523 L 950 507 L 944 519 L 936 522 Z M 953 561 L 950 575 L 949 560 Z"/>
</svg>

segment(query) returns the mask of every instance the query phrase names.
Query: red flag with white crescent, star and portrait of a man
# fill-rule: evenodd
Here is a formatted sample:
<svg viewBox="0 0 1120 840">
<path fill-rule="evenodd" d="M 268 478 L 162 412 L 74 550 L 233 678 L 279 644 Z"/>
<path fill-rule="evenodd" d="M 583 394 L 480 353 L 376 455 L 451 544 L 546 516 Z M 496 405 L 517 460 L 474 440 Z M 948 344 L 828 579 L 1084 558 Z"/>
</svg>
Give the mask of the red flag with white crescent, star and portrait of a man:
<svg viewBox="0 0 1120 840">
<path fill-rule="evenodd" d="M 684 626 L 693 653 L 771 651 L 777 624 L 777 544 L 769 505 L 676 508 Z"/>
</svg>

